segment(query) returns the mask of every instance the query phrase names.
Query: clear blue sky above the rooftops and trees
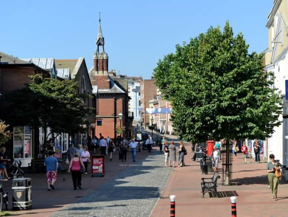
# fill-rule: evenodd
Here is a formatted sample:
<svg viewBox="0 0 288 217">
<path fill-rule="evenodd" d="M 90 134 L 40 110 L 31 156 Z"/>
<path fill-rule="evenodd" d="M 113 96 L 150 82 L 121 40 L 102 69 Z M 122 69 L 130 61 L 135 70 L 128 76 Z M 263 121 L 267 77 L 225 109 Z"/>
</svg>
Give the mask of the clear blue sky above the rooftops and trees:
<svg viewBox="0 0 288 217">
<path fill-rule="evenodd" d="M 93 65 L 101 12 L 109 69 L 149 79 L 176 44 L 223 26 L 242 32 L 249 51 L 268 47 L 272 0 L 14 0 L 0 3 L 0 51 L 17 57 L 76 59 Z"/>
</svg>

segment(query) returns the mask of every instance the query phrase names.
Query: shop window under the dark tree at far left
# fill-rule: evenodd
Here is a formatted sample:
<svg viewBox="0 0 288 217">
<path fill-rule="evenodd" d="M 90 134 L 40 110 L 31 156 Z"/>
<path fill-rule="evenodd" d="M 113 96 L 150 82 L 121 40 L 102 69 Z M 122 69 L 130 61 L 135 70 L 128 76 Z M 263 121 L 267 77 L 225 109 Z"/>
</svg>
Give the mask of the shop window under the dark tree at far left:
<svg viewBox="0 0 288 217">
<path fill-rule="evenodd" d="M 14 158 L 31 158 L 32 131 L 29 126 L 13 128 Z"/>
</svg>

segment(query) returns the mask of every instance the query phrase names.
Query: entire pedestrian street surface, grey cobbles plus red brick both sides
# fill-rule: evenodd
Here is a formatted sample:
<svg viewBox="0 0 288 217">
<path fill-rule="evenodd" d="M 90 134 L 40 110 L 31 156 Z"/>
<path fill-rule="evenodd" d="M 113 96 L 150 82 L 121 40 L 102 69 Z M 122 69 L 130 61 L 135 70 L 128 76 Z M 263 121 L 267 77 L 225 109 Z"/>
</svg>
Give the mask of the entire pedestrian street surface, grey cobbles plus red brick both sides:
<svg viewBox="0 0 288 217">
<path fill-rule="evenodd" d="M 164 135 L 168 140 L 175 136 Z M 133 163 L 131 154 L 127 162 L 106 161 L 104 177 L 83 175 L 83 190 L 73 191 L 70 174 L 60 173 L 56 190 L 46 190 L 45 174 L 33 173 L 32 210 L 9 211 L 19 216 L 169 216 L 170 195 L 176 196 L 176 216 L 231 216 L 231 196 L 237 197 L 238 216 L 288 216 L 288 182 L 282 178 L 278 187 L 278 200 L 271 199 L 268 188 L 266 163 L 254 159 L 242 161 L 241 154 L 233 156 L 232 183 L 222 185 L 218 180 L 218 195 L 206 193 L 202 198 L 199 162 L 191 160 L 191 144 L 185 143 L 188 154 L 185 167 L 164 167 L 164 155 L 158 147 L 152 153 L 137 152 Z M 220 173 L 222 176 L 222 174 Z M 11 188 L 11 181 L 4 183 Z M 12 193 L 9 192 L 10 209 Z M 268 208 L 269 207 L 269 208 Z"/>
</svg>

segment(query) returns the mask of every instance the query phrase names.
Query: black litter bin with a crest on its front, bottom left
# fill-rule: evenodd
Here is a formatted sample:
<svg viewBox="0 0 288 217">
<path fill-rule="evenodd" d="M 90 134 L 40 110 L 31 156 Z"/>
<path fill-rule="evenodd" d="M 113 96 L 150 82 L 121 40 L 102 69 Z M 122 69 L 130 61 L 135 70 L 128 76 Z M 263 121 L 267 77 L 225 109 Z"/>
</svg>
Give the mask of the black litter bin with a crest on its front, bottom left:
<svg viewBox="0 0 288 217">
<path fill-rule="evenodd" d="M 31 178 L 15 178 L 12 180 L 12 208 L 25 210 L 32 208 Z"/>
</svg>

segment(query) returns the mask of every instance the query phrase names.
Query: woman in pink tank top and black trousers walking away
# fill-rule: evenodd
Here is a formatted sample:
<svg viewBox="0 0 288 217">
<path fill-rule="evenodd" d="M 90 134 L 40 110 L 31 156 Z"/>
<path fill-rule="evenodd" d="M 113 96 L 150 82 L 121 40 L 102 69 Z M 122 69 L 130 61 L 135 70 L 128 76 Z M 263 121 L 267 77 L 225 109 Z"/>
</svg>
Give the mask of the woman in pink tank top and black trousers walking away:
<svg viewBox="0 0 288 217">
<path fill-rule="evenodd" d="M 82 179 L 81 166 L 83 169 L 85 168 L 82 159 L 79 158 L 79 155 L 76 152 L 74 155 L 74 158 L 71 159 L 71 161 L 70 161 L 69 169 L 68 169 L 68 172 L 71 172 L 74 190 L 77 190 L 77 187 L 79 189 L 82 189 L 82 186 L 81 186 L 81 179 Z"/>
</svg>

